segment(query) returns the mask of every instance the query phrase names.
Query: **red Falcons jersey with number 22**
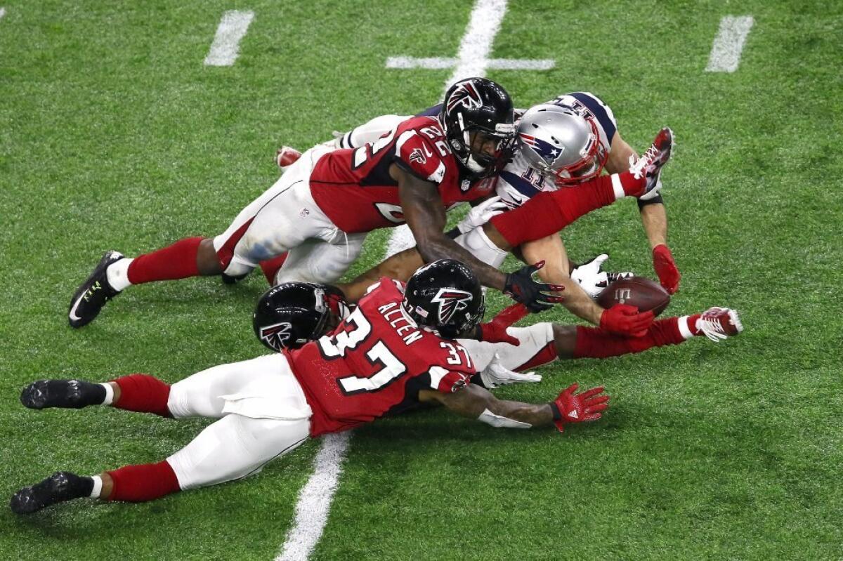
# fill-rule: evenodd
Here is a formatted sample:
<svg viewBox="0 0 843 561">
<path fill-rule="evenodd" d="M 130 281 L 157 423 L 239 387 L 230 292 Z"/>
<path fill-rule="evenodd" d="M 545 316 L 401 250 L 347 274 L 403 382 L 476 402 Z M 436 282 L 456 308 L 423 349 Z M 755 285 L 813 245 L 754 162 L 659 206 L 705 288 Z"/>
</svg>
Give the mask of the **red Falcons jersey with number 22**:
<svg viewBox="0 0 843 561">
<path fill-rule="evenodd" d="M 398 182 L 389 176 L 393 163 L 437 184 L 446 210 L 491 193 L 491 185 L 471 184 L 448 147 L 440 120 L 425 116 L 401 122 L 372 144 L 325 154 L 310 174 L 310 192 L 344 232 L 403 224 Z"/>
</svg>

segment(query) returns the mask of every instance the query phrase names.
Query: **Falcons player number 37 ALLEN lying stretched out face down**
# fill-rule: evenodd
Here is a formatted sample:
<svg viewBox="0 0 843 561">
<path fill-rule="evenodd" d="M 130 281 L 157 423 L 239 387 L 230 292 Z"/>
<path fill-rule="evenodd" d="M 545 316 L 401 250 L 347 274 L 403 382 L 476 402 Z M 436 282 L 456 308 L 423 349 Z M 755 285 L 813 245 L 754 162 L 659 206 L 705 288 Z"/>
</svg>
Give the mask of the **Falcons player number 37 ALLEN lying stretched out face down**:
<svg viewBox="0 0 843 561">
<path fill-rule="evenodd" d="M 24 388 L 31 409 L 112 405 L 181 419 L 219 419 L 162 462 L 94 477 L 59 472 L 13 495 L 19 514 L 64 500 L 145 501 L 244 478 L 309 437 L 348 430 L 419 403 L 496 427 L 526 429 L 599 419 L 602 387 L 551 403 L 498 400 L 470 384 L 475 368 L 453 336 L 473 332 L 485 309 L 475 275 L 458 261 L 429 264 L 402 283 L 384 279 L 331 334 L 298 350 L 214 366 L 172 386 L 145 374 L 95 384 L 47 380 Z M 436 313 L 426 313 L 428 310 Z M 488 329 L 481 329 L 486 334 Z"/>
</svg>

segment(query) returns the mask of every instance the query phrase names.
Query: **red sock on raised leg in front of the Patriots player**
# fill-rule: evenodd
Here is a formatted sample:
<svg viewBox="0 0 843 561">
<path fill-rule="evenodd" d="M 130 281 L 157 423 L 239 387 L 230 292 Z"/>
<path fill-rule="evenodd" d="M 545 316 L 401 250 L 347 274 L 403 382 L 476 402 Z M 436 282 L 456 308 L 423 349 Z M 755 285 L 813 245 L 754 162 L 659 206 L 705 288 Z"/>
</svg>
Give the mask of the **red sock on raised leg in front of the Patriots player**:
<svg viewBox="0 0 843 561">
<path fill-rule="evenodd" d="M 644 179 L 635 179 L 629 172 L 618 174 L 618 178 L 626 195 L 641 192 Z M 560 232 L 580 216 L 615 200 L 612 177 L 603 175 L 576 187 L 542 192 L 514 211 L 492 216 L 490 222 L 510 246 L 517 248 L 524 242 Z"/>
</svg>

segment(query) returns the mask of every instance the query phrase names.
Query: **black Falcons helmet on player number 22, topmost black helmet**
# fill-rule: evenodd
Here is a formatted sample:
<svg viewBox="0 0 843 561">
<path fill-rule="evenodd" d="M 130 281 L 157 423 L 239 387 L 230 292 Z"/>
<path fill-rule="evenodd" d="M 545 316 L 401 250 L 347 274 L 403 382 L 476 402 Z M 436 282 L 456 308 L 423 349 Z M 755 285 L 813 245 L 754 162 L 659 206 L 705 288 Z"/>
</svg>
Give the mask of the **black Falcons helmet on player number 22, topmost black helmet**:
<svg viewBox="0 0 843 561">
<path fill-rule="evenodd" d="M 513 100 L 507 90 L 481 77 L 460 80 L 448 88 L 439 114 L 454 155 L 475 178 L 497 174 L 515 146 Z M 471 134 L 496 142 L 493 156 L 471 150 Z"/>
</svg>

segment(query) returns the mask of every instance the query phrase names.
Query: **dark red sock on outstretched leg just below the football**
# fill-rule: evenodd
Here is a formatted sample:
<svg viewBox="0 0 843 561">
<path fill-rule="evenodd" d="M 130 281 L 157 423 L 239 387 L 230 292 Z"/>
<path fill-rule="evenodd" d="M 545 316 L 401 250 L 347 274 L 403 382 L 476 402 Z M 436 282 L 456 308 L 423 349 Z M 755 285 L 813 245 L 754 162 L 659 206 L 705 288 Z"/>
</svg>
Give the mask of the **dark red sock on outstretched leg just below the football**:
<svg viewBox="0 0 843 561">
<path fill-rule="evenodd" d="M 574 358 L 606 358 L 608 356 L 640 353 L 642 350 L 664 345 L 679 345 L 685 338 L 679 333 L 678 318 L 659 319 L 652 323 L 643 337 L 622 337 L 598 328 L 577 327 Z"/>
</svg>

